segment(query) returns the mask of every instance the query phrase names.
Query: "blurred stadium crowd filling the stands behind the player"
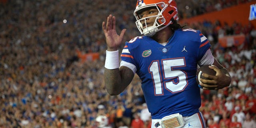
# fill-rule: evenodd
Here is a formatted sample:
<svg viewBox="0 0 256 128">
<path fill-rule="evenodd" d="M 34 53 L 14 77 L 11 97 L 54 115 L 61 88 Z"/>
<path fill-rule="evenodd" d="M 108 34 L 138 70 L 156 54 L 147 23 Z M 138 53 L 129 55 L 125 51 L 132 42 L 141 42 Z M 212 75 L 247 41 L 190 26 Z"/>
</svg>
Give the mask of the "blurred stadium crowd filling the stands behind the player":
<svg viewBox="0 0 256 128">
<path fill-rule="evenodd" d="M 181 18 L 220 10 L 248 0 L 176 0 Z M 0 1 L 0 128 L 95 128 L 106 115 L 113 128 L 147 128 L 140 80 L 136 76 L 118 96 L 104 87 L 105 38 L 102 21 L 111 13 L 124 41 L 139 36 L 133 11 L 136 0 L 1 0 Z M 199 4 L 198 4 L 199 3 Z M 192 11 L 186 11 L 186 5 Z M 67 23 L 62 21 L 66 19 Z M 256 30 L 248 23 L 232 26 L 188 24 L 212 43 L 214 56 L 232 76 L 229 88 L 201 90 L 209 128 L 256 126 Z M 219 36 L 244 34 L 238 47 L 222 48 Z M 96 61 L 82 62 L 82 53 L 99 52 Z M 235 118 L 236 116 L 237 118 Z M 138 125 L 138 120 L 141 125 Z M 131 123 L 133 122 L 133 123 Z M 137 123 L 137 124 L 136 124 Z M 247 127 L 246 127 L 247 126 Z M 232 127 L 233 128 L 233 127 Z"/>
</svg>

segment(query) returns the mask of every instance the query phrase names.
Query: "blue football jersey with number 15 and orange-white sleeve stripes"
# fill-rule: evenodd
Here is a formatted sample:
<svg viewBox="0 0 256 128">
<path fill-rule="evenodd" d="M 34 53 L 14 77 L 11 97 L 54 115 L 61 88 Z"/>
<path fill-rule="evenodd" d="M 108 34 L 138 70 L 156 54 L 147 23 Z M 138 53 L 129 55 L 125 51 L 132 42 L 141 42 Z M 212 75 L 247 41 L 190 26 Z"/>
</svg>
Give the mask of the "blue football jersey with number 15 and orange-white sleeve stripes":
<svg viewBox="0 0 256 128">
<path fill-rule="evenodd" d="M 209 48 L 208 39 L 193 29 L 176 30 L 166 46 L 150 36 L 126 42 L 122 61 L 136 67 L 152 119 L 199 112 L 201 98 L 196 71 L 198 61 Z"/>
</svg>

